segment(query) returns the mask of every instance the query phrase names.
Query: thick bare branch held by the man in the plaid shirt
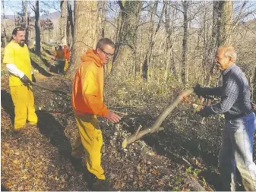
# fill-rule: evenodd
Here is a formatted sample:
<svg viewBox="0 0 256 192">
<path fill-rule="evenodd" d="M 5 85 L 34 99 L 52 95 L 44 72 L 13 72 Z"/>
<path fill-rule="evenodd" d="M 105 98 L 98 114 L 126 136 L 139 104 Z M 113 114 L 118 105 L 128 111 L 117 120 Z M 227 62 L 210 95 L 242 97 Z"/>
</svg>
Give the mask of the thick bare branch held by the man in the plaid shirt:
<svg viewBox="0 0 256 192">
<path fill-rule="evenodd" d="M 125 148 L 131 143 L 134 143 L 136 140 L 141 139 L 141 137 L 144 137 L 146 134 L 152 134 L 157 131 L 163 130 L 163 127 L 160 127 L 160 125 L 163 123 L 163 121 L 166 119 L 166 117 L 169 115 L 170 112 L 172 112 L 173 109 L 179 104 L 179 102 L 182 101 L 183 97 L 189 96 L 191 93 L 194 92 L 194 89 L 188 89 L 179 94 L 174 101 L 158 116 L 156 119 L 156 122 L 149 128 L 143 130 L 143 131 L 136 131 L 136 133 L 132 134 L 131 136 L 127 137 L 122 142 L 122 147 Z"/>
</svg>

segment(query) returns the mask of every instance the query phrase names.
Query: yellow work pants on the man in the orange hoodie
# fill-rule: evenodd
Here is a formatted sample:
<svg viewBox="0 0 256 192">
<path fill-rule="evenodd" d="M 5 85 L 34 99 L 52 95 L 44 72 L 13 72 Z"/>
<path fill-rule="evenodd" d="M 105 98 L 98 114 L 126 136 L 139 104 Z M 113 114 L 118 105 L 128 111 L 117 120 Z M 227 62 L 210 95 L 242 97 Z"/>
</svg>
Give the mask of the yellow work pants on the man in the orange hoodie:
<svg viewBox="0 0 256 192">
<path fill-rule="evenodd" d="M 76 156 L 76 153 L 81 153 L 81 145 L 84 146 L 88 171 L 96 178 L 105 180 L 104 170 L 101 166 L 103 134 L 96 115 L 74 115 L 74 118 L 77 122 L 80 138 L 77 138 L 72 155 Z"/>
</svg>

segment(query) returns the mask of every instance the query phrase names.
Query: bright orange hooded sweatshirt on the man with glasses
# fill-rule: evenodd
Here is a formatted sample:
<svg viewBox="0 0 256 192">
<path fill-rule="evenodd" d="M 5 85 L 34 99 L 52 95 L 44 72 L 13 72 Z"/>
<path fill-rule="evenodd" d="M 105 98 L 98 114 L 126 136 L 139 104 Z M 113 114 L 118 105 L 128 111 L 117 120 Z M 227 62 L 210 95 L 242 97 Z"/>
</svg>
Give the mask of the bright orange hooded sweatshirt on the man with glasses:
<svg viewBox="0 0 256 192">
<path fill-rule="evenodd" d="M 72 106 L 74 113 L 106 117 L 109 110 L 103 103 L 103 62 L 93 49 L 81 56 L 82 63 L 74 76 Z"/>
</svg>

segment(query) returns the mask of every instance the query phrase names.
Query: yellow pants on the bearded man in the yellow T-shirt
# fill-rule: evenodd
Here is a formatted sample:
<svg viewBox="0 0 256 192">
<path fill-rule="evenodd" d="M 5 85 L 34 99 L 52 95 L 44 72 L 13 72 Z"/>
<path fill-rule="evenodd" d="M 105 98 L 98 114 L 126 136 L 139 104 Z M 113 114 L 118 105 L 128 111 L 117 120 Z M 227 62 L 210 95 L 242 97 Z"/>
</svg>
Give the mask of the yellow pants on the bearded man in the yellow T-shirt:
<svg viewBox="0 0 256 192">
<path fill-rule="evenodd" d="M 33 91 L 29 86 L 10 86 L 11 99 L 14 102 L 14 129 L 24 127 L 26 121 L 30 124 L 37 123 L 34 108 Z"/>
</svg>

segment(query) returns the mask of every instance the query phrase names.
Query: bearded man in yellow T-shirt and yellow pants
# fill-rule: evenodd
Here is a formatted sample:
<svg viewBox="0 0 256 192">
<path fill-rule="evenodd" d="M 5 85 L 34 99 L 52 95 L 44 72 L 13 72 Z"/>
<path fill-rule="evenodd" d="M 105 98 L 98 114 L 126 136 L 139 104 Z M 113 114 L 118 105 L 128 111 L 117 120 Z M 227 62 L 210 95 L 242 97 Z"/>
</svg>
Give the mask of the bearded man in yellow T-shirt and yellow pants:
<svg viewBox="0 0 256 192">
<path fill-rule="evenodd" d="M 26 122 L 36 125 L 37 116 L 31 82 L 36 82 L 30 62 L 30 52 L 25 44 L 25 31 L 16 27 L 11 42 L 5 47 L 3 63 L 9 71 L 9 86 L 14 102 L 14 131 L 24 133 Z"/>
</svg>

